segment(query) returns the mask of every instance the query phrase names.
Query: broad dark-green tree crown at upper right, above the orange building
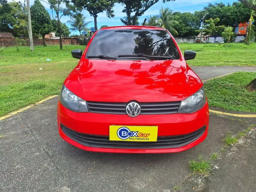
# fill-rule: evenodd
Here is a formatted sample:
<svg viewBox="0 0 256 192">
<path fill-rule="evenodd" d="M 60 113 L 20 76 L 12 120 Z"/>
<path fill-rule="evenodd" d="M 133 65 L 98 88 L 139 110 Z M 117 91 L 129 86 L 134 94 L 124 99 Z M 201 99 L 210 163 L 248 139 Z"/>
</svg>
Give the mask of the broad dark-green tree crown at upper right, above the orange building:
<svg viewBox="0 0 256 192">
<path fill-rule="evenodd" d="M 248 22 L 251 13 L 250 9 L 240 2 L 233 2 L 232 5 L 229 3 L 227 5 L 224 3 L 209 3 L 207 7 L 204 7 L 203 11 L 209 12 L 205 16 L 206 20 L 219 18 L 220 21 L 216 24 L 217 26 L 230 26 L 233 31 L 240 23 Z"/>
</svg>

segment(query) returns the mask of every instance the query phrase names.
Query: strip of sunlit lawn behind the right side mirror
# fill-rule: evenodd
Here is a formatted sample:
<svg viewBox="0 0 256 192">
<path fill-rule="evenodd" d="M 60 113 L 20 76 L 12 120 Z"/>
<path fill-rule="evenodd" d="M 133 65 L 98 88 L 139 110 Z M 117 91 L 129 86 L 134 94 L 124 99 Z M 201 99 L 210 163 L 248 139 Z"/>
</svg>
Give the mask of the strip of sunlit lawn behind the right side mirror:
<svg viewBox="0 0 256 192">
<path fill-rule="evenodd" d="M 196 52 L 196 58 L 189 60 L 190 66 L 202 65 L 256 65 L 256 43 L 180 43 L 182 53 L 185 50 Z"/>
</svg>

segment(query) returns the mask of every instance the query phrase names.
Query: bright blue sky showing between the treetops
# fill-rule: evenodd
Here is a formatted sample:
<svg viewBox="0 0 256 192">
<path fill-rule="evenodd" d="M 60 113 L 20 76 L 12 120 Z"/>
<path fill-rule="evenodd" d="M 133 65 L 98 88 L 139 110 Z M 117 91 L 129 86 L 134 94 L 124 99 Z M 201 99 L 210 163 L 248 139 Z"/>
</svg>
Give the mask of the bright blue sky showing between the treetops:
<svg viewBox="0 0 256 192">
<path fill-rule="evenodd" d="M 11 1 L 11 0 L 8 0 Z M 19 1 L 19 0 L 16 0 Z M 45 0 L 47 1 L 47 0 Z M 158 3 L 156 3 L 155 5 L 153 5 L 152 7 L 150 7 L 140 18 L 139 18 L 139 23 L 142 23 L 143 20 L 150 15 L 155 15 L 159 13 L 159 10 L 162 7 L 166 8 L 169 7 L 170 9 L 172 9 L 173 11 L 180 11 L 180 12 L 194 12 L 194 11 L 199 11 L 202 10 L 204 6 L 207 6 L 208 3 L 215 3 L 215 2 L 223 2 L 225 4 L 227 3 L 232 3 L 236 0 L 175 0 L 175 1 L 170 1 L 170 2 L 165 2 L 163 3 L 161 0 L 159 0 Z M 30 5 L 32 5 L 34 3 L 34 0 L 30 0 Z M 45 3 L 42 2 L 41 3 L 45 6 L 45 8 L 47 9 L 47 11 L 49 11 L 51 17 L 52 17 L 52 11 L 50 9 L 50 6 Z M 102 25 L 108 25 L 108 26 L 119 26 L 119 25 L 123 25 L 123 23 L 120 21 L 120 18 L 125 17 L 125 13 L 122 12 L 123 10 L 123 6 L 121 4 L 116 3 L 114 6 L 114 14 L 115 17 L 114 18 L 107 18 L 106 17 L 106 13 L 99 13 L 98 14 L 98 18 L 97 18 L 97 26 L 98 28 L 100 28 Z M 94 27 L 94 19 L 93 17 L 90 17 L 90 14 L 88 13 L 88 11 L 83 10 L 82 12 L 86 17 L 87 17 L 87 21 L 92 21 L 88 27 Z M 69 17 L 62 17 L 61 18 L 61 22 L 62 23 L 66 23 L 69 20 Z M 66 23 L 67 24 L 67 23 Z M 67 24 L 68 27 L 69 24 Z M 71 35 L 72 34 L 79 34 L 78 31 L 71 31 Z"/>
</svg>

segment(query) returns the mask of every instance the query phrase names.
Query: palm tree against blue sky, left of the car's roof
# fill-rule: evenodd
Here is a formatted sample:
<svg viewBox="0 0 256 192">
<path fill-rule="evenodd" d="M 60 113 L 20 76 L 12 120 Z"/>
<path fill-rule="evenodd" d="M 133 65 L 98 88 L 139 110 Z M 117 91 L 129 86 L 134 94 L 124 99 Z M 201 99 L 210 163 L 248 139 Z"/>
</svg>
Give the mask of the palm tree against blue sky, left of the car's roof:
<svg viewBox="0 0 256 192">
<path fill-rule="evenodd" d="M 86 27 L 91 21 L 85 22 L 86 17 L 82 13 L 77 13 L 73 16 L 73 18 L 70 18 L 70 20 L 67 21 L 71 25 L 72 28 L 69 28 L 72 31 L 79 31 L 81 35 L 81 31 L 89 30 L 88 27 Z"/>
</svg>

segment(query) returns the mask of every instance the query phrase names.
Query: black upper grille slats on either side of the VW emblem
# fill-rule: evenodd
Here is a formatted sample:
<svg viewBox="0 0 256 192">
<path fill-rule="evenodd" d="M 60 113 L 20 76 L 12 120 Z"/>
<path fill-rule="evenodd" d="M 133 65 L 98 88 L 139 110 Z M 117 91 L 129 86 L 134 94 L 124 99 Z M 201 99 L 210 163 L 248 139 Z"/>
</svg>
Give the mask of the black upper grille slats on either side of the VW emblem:
<svg viewBox="0 0 256 192">
<path fill-rule="evenodd" d="M 127 103 L 87 101 L 91 113 L 126 115 Z M 178 113 L 180 101 L 144 102 L 140 103 L 140 115 L 175 114 Z"/>
</svg>

